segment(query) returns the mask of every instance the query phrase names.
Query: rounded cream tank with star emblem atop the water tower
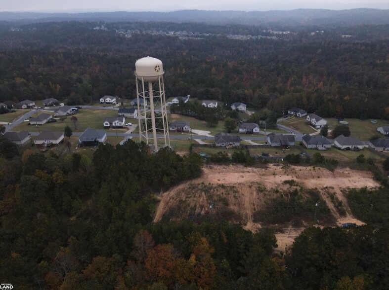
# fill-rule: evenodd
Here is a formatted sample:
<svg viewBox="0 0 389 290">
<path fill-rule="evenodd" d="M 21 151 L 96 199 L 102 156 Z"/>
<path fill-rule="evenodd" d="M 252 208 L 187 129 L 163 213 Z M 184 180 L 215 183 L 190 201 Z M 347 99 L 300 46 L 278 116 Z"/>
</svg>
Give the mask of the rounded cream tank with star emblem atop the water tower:
<svg viewBox="0 0 389 290">
<path fill-rule="evenodd" d="M 156 81 L 160 75 L 164 74 L 162 61 L 154 57 L 144 57 L 138 59 L 135 63 L 135 75 L 138 79 L 147 82 Z"/>
</svg>

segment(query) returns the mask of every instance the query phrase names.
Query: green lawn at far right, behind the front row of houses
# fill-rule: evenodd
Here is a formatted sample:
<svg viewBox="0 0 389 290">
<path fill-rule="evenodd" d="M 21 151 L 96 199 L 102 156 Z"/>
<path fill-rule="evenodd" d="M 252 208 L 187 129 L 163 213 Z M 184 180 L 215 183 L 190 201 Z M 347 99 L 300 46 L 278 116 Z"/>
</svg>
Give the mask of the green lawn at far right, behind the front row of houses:
<svg viewBox="0 0 389 290">
<path fill-rule="evenodd" d="M 338 125 L 341 125 L 341 123 L 339 123 L 337 119 L 329 118 L 326 120 L 330 130 L 334 129 Z M 348 122 L 348 127 L 350 128 L 350 136 L 354 136 L 362 141 L 369 140 L 369 138 L 373 135 L 381 135 L 377 131 L 377 128 L 389 125 L 389 121 L 385 120 L 377 120 L 378 122 L 376 124 L 370 122 L 370 119 L 366 119 L 364 121 L 360 119 L 345 119 L 345 121 Z M 382 138 L 384 138 L 384 135 L 381 136 Z"/>
</svg>

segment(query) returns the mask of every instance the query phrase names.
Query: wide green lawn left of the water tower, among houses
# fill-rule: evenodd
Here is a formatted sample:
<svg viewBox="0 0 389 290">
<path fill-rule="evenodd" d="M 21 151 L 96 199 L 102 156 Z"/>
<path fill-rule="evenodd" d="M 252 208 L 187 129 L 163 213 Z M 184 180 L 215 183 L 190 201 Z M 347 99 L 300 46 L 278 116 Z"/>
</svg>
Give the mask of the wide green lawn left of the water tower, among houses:
<svg viewBox="0 0 389 290">
<path fill-rule="evenodd" d="M 73 121 L 71 120 L 72 116 L 67 116 L 67 118 L 61 122 L 59 119 L 55 123 L 46 123 L 39 127 L 39 130 L 42 131 L 58 131 L 62 132 L 65 126 L 72 128 L 73 132 L 84 132 L 86 128 L 92 129 L 103 129 L 103 121 L 105 117 L 117 116 L 117 111 L 114 110 L 100 110 L 100 109 L 84 109 L 82 112 L 75 114 L 77 117 L 76 128 Z M 133 119 L 131 119 L 133 120 Z M 14 127 L 13 131 L 26 130 L 30 132 L 38 132 L 36 126 L 29 126 L 27 122 Z M 119 129 L 118 129 L 119 130 Z M 119 131 L 118 131 L 119 132 Z"/>
</svg>

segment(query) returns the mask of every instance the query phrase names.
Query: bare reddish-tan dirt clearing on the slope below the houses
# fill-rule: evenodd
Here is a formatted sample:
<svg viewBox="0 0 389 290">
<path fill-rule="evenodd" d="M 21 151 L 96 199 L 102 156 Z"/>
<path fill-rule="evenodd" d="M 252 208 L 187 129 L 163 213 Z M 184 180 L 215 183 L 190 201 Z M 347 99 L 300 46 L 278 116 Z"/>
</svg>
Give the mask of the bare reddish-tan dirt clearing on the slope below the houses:
<svg viewBox="0 0 389 290">
<path fill-rule="evenodd" d="M 253 221 L 254 212 L 264 205 L 266 199 L 274 196 L 274 191 L 287 190 L 289 185 L 283 181 L 290 180 L 304 188 L 317 188 L 339 225 L 343 222 L 363 224 L 352 216 L 344 195 L 345 189 L 379 186 L 370 172 L 348 168 L 331 172 L 324 168 L 281 164 L 267 165 L 266 168 L 235 164 L 206 165 L 200 178 L 179 184 L 160 196 L 154 221 L 160 221 L 172 211 L 178 219 L 185 216 L 185 211 L 198 215 L 210 214 L 210 204 L 213 203 L 214 214 L 236 215 L 244 228 L 255 232 L 261 225 Z M 339 201 L 346 214 L 339 213 L 335 205 Z M 284 250 L 291 245 L 303 229 L 290 226 L 277 233 L 278 248 Z"/>
</svg>

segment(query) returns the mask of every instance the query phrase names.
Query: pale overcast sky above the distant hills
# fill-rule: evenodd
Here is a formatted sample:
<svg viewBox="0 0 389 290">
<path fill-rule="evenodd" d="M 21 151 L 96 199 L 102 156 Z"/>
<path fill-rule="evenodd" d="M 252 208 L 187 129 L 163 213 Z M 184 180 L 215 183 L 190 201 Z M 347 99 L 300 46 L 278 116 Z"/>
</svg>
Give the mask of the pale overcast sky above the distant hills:
<svg viewBox="0 0 389 290">
<path fill-rule="evenodd" d="M 297 8 L 389 9 L 389 0 L 0 0 L 0 11 L 92 12 L 201 10 L 291 10 Z"/>
</svg>

